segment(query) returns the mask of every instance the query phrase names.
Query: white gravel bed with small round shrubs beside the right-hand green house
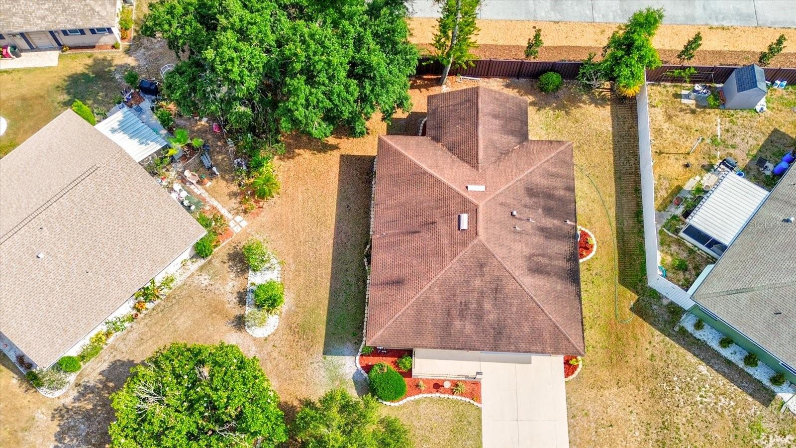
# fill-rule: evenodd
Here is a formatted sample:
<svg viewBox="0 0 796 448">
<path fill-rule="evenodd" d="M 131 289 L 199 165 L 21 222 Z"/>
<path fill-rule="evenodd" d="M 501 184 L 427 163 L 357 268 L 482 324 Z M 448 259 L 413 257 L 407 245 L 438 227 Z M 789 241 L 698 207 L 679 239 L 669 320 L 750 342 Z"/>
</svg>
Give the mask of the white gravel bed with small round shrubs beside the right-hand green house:
<svg viewBox="0 0 796 448">
<path fill-rule="evenodd" d="M 796 414 L 796 386 L 786 381 L 782 386 L 775 386 L 771 384 L 769 378 L 775 375 L 775 372 L 771 367 L 768 367 L 763 362 L 757 364 L 757 367 L 749 367 L 746 364 L 743 364 L 743 357 L 747 356 L 748 352 L 743 350 L 743 348 L 739 347 L 737 344 L 732 344 L 728 348 L 723 348 L 719 345 L 719 341 L 721 338 L 724 337 L 722 333 L 720 333 L 716 328 L 712 328 L 708 324 L 704 324 L 704 328 L 701 330 L 694 329 L 694 323 L 698 318 L 693 314 L 686 315 L 681 321 L 680 324 L 683 328 L 688 330 L 696 339 L 703 341 L 705 344 L 708 344 L 713 350 L 719 352 L 721 356 L 724 358 L 732 361 L 733 364 L 736 364 L 738 367 L 741 367 L 744 371 L 746 371 L 749 375 L 758 379 L 760 383 L 763 383 L 763 386 L 771 389 L 774 393 L 781 398 L 783 401 L 787 403 L 788 409 L 791 412 Z M 788 401 L 790 400 L 790 401 Z"/>
</svg>

